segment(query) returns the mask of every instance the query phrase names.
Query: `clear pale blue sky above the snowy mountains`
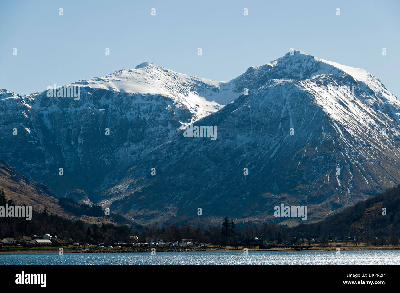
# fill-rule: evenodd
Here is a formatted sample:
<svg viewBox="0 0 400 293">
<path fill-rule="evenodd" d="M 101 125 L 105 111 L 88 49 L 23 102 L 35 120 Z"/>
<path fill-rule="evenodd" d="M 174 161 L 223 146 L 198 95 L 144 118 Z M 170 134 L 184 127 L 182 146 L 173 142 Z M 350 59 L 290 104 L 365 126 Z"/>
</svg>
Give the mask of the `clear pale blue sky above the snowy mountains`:
<svg viewBox="0 0 400 293">
<path fill-rule="evenodd" d="M 228 81 L 294 48 L 363 68 L 400 98 L 399 15 L 398 0 L 0 0 L 0 88 L 41 92 L 144 61 Z"/>
</svg>

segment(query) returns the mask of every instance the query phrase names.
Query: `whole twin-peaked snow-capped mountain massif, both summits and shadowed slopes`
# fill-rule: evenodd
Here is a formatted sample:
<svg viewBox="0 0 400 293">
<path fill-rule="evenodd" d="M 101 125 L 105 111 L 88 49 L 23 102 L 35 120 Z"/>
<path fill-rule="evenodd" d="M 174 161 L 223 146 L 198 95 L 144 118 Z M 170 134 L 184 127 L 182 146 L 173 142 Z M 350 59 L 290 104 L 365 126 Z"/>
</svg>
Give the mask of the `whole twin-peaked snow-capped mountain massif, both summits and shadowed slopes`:
<svg viewBox="0 0 400 293">
<path fill-rule="evenodd" d="M 75 84 L 78 101 L 0 92 L 0 156 L 138 222 L 201 208 L 294 224 L 274 206 L 313 221 L 400 183 L 400 102 L 358 68 L 295 51 L 227 83 L 144 63 Z M 185 137 L 190 123 L 216 140 Z"/>
</svg>

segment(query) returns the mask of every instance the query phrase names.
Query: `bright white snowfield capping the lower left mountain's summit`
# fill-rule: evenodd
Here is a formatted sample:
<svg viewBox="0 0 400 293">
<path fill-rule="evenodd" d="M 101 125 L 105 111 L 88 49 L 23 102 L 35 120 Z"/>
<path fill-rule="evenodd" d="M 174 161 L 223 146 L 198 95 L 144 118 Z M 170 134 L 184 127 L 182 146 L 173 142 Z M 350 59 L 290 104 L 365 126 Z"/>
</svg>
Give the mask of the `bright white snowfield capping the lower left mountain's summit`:
<svg viewBox="0 0 400 293">
<path fill-rule="evenodd" d="M 239 90 L 237 83 L 236 80 L 220 82 L 180 74 L 150 62 L 143 62 L 133 70 L 119 70 L 100 78 L 79 80 L 73 85 L 129 94 L 168 96 L 180 100 L 186 108 L 196 112 L 196 117 L 201 118 L 208 114 L 204 112 L 215 112 L 220 109 L 220 105 L 232 102 L 238 96 L 232 96 L 232 92 Z"/>
</svg>

